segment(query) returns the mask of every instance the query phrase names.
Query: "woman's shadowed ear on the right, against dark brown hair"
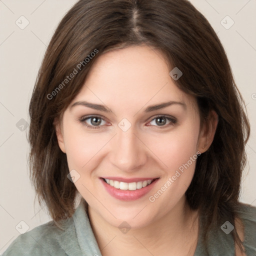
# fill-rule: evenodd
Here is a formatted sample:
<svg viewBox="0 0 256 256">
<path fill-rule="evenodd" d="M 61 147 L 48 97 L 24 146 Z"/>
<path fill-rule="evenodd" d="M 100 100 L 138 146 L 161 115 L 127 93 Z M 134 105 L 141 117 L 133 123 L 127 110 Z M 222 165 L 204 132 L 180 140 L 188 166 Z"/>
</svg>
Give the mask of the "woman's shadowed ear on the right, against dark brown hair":
<svg viewBox="0 0 256 256">
<path fill-rule="evenodd" d="M 198 151 L 204 153 L 210 147 L 218 124 L 218 115 L 214 110 L 209 112 L 208 123 L 204 123 L 198 138 Z"/>
</svg>

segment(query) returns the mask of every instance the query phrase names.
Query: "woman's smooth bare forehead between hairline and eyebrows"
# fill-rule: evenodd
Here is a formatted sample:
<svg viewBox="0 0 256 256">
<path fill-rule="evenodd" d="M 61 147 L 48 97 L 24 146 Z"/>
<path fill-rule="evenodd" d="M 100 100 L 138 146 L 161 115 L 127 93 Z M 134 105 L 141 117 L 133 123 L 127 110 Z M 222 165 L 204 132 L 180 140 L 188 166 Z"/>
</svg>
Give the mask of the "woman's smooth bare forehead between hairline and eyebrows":
<svg viewBox="0 0 256 256">
<path fill-rule="evenodd" d="M 88 100 L 114 108 L 135 108 L 170 100 L 194 105 L 170 77 L 170 65 L 162 52 L 149 46 L 129 46 L 100 55 L 84 85 L 71 102 Z"/>
</svg>

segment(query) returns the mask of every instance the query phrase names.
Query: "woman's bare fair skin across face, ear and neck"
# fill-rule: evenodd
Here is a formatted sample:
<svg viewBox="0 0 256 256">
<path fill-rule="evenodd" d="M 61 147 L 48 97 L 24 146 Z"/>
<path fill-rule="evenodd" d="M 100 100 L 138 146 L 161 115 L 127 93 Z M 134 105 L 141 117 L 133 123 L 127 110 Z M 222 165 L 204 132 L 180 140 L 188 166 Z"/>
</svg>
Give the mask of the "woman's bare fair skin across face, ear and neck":
<svg viewBox="0 0 256 256">
<path fill-rule="evenodd" d="M 198 215 L 186 202 L 185 191 L 193 177 L 195 161 L 158 197 L 153 195 L 197 151 L 210 146 L 217 126 L 214 111 L 209 129 L 200 129 L 198 107 L 191 95 L 181 91 L 170 77 L 161 52 L 145 45 L 108 51 L 93 63 L 84 85 L 56 124 L 58 144 L 66 153 L 69 170 L 80 177 L 74 183 L 88 203 L 91 226 L 103 256 L 193 255 L 198 235 Z M 149 105 L 172 104 L 153 112 Z M 78 101 L 102 104 L 112 112 L 94 110 Z M 98 116 L 98 128 L 92 119 Z M 161 126 L 157 115 L 174 117 Z M 126 118 L 127 131 L 118 127 Z M 95 126 L 95 125 L 94 125 Z M 198 156 L 199 157 L 199 156 Z M 143 197 L 121 201 L 109 195 L 99 177 L 159 177 Z M 122 233 L 126 221 L 131 229 Z M 131 246 L 132 244 L 132 246 Z M 190 254 L 189 254 L 190 253 Z"/>
</svg>

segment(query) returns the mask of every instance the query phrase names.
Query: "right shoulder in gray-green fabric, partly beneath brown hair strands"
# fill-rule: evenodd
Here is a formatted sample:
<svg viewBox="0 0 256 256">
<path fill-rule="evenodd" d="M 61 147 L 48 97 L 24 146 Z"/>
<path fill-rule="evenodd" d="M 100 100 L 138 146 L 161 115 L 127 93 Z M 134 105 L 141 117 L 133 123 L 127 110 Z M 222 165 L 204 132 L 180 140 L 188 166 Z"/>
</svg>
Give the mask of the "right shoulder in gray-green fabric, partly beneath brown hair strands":
<svg viewBox="0 0 256 256">
<path fill-rule="evenodd" d="M 236 209 L 238 215 L 235 223 L 230 219 L 220 219 L 208 233 L 206 242 L 203 242 L 202 232 L 199 232 L 197 247 L 194 255 L 256 255 L 256 207 L 239 203 Z M 205 226 L 205 217 L 200 215 L 200 227 Z M 234 243 L 232 230 L 235 226 L 238 236 L 242 241 L 245 254 L 240 252 Z M 201 229 L 201 230 L 202 230 Z"/>
</svg>

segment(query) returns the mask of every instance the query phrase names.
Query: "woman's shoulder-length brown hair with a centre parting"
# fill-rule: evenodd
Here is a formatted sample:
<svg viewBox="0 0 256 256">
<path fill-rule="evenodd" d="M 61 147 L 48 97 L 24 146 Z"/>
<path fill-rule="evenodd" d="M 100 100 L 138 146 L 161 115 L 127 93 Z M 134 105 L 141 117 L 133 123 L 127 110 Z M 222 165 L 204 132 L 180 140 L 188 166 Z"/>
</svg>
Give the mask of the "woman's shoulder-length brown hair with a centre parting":
<svg viewBox="0 0 256 256">
<path fill-rule="evenodd" d="M 186 191 L 190 207 L 205 216 L 206 240 L 220 219 L 234 223 L 238 216 L 250 128 L 225 51 L 187 0 L 79 0 L 66 13 L 48 45 L 29 105 L 31 180 L 56 224 L 73 214 L 76 188 L 67 178 L 66 155 L 58 147 L 53 122 L 79 92 L 97 57 L 138 44 L 156 47 L 172 67 L 182 70 L 176 85 L 197 99 L 201 123 L 207 124 L 211 109 L 218 114 L 214 140 L 198 157 Z M 77 73 L 67 82 L 74 69 Z M 236 229 L 232 235 L 240 244 Z"/>
</svg>

